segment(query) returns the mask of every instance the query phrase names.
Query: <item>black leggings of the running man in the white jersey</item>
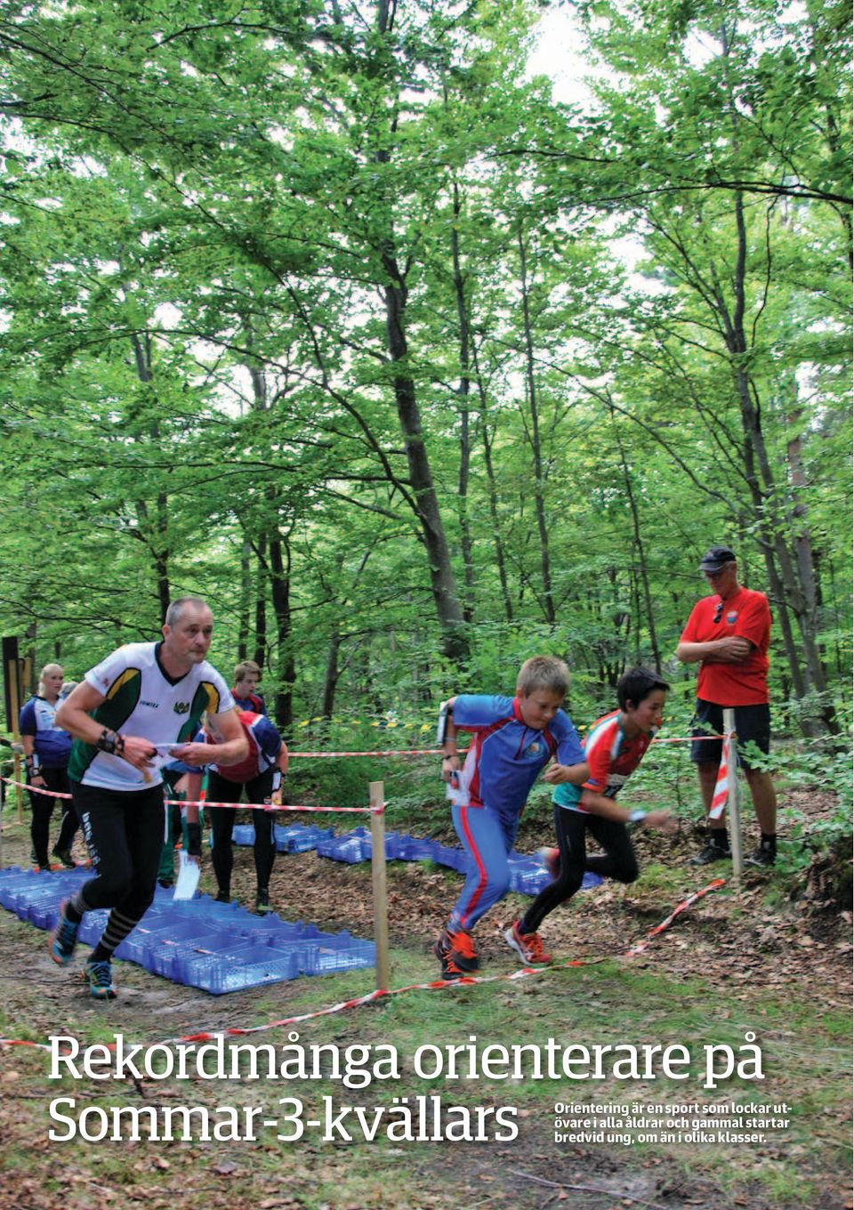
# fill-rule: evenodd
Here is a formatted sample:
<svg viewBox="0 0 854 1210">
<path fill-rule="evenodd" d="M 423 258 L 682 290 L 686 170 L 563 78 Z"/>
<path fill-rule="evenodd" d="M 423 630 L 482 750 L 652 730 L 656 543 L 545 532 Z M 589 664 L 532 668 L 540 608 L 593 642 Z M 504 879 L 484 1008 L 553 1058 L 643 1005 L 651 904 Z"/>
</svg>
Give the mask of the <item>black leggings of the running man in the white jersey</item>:
<svg viewBox="0 0 854 1210">
<path fill-rule="evenodd" d="M 163 847 L 163 786 L 105 790 L 71 782 L 71 794 L 96 869 L 81 887 L 82 903 L 140 920 L 154 899 Z"/>
</svg>

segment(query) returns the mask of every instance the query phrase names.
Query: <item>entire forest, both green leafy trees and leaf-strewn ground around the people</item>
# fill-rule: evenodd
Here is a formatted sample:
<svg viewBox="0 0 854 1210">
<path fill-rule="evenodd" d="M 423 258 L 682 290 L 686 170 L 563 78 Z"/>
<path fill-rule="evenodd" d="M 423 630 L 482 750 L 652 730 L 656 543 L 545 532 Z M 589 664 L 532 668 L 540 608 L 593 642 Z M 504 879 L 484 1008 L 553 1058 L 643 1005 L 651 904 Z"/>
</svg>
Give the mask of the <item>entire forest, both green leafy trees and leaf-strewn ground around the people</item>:
<svg viewBox="0 0 854 1210">
<path fill-rule="evenodd" d="M 479 929 L 481 974 L 449 983 L 435 939 L 460 866 L 422 858 L 377 860 L 387 924 L 370 863 L 313 849 L 279 853 L 261 901 L 237 846 L 236 901 L 210 905 L 255 939 L 270 917 L 240 904 L 357 945 L 380 921 L 388 983 L 342 967 L 210 996 L 117 960 L 119 997 L 98 999 L 4 899 L 0 1210 L 853 1204 L 850 62 L 843 0 L 0 0 L 0 636 L 24 688 L 52 661 L 79 681 L 202 595 L 212 662 L 230 679 L 258 661 L 292 756 L 312 757 L 282 806 L 311 814 L 284 823 L 350 829 L 365 817 L 331 812 L 374 783 L 390 832 L 455 845 L 442 701 L 512 693 L 552 653 L 585 733 L 642 662 L 671 692 L 627 805 L 676 817 L 634 832 L 636 882 L 548 918 L 550 967 L 520 969 L 507 926 L 532 900 L 510 893 Z M 751 760 L 780 795 L 780 854 L 743 876 L 691 864 L 703 812 L 675 742 L 697 679 L 675 651 L 715 544 L 773 615 L 773 743 Z M 754 814 L 745 790 L 746 832 Z M 552 820 L 541 779 L 519 851 Z M 18 788 L 0 872 L 58 916 L 65 872 L 23 870 L 41 865 L 29 825 Z M 200 889 L 218 894 L 207 847 Z M 190 949 L 235 960 L 198 933 Z M 227 1037 L 244 1059 L 381 1039 L 403 1076 L 57 1085 L 59 1031 L 158 1054 Z M 553 1042 L 758 1053 L 763 1082 L 411 1064 Z M 327 1094 L 375 1129 L 416 1099 L 445 1118 L 513 1101 L 519 1134 L 64 1147 L 59 1093 L 81 1117 L 198 1102 L 265 1128 L 294 1122 L 287 1104 L 319 1127 Z M 631 1108 L 631 1146 L 555 1134 L 585 1101 Z M 708 1136 L 667 1133 L 694 1101 Z M 717 1131 L 743 1102 L 783 1127 Z M 641 1110 L 667 1131 L 640 1134 Z"/>
</svg>

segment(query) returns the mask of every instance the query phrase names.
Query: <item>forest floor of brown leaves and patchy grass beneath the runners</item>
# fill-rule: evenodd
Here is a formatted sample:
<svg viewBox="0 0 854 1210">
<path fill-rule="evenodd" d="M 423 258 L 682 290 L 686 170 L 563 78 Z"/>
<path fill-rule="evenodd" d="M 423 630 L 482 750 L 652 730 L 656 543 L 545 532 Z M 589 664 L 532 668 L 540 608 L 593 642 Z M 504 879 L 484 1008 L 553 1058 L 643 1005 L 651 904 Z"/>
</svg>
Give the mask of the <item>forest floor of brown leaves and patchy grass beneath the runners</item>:
<svg viewBox="0 0 854 1210">
<path fill-rule="evenodd" d="M 791 791 L 790 800 L 798 794 Z M 832 807 L 815 794 L 797 805 L 817 819 Z M 27 825 L 16 822 L 12 808 L 6 811 L 2 839 L 4 864 L 25 864 Z M 530 851 L 548 840 L 525 832 L 518 847 Z M 304 1047 L 394 1045 L 400 1079 L 390 1084 L 375 1081 L 354 1090 L 325 1079 L 319 1085 L 198 1077 L 184 1084 L 128 1078 L 102 1083 L 86 1076 L 53 1081 L 46 1050 L 0 1048 L 5 1156 L 0 1208 L 103 1210 L 145 1203 L 155 1210 L 535 1210 L 565 1200 L 575 1210 L 850 1208 L 844 1158 L 852 1118 L 850 912 L 818 903 L 814 894 L 809 898 L 803 877 L 798 882 L 781 872 L 749 874 L 735 888 L 728 864 L 702 870 L 687 864 L 696 847 L 697 837 L 687 828 L 673 837 L 641 834 L 639 882 L 627 888 L 605 883 L 584 892 L 547 921 L 544 938 L 558 960 L 588 958 L 587 968 L 408 992 L 299 1025 Z M 82 858 L 80 841 L 75 852 Z M 625 957 L 687 894 L 719 876 L 729 880 L 722 891 L 680 915 L 642 955 Z M 432 865 L 388 866 L 392 986 L 435 979 L 429 946 L 458 886 L 457 875 Z M 212 889 L 209 865 L 202 888 Z M 236 849 L 232 892 L 246 905 L 254 901 L 248 848 Z M 271 898 L 285 918 L 373 934 L 368 865 L 341 865 L 315 853 L 279 855 Z M 508 897 L 481 922 L 483 974 L 509 976 L 518 969 L 495 924 L 512 920 L 526 901 Z M 119 997 L 103 1004 L 83 989 L 81 963 L 75 961 L 74 969 L 54 966 L 45 933 L 2 910 L 0 940 L 0 1032 L 7 1038 L 46 1041 L 63 1033 L 88 1044 L 112 1042 L 120 1033 L 127 1045 L 150 1047 L 200 1031 L 265 1026 L 362 996 L 373 986 L 371 973 L 363 970 L 212 997 L 132 963 L 116 963 Z M 732 1079 L 716 1088 L 703 1085 L 702 1065 L 693 1064 L 692 1078 L 682 1083 L 660 1071 L 642 1079 L 621 1081 L 611 1072 L 588 1082 L 472 1083 L 419 1079 L 411 1062 L 419 1045 L 463 1045 L 473 1035 L 481 1048 L 517 1042 L 542 1047 L 554 1037 L 561 1045 L 683 1044 L 694 1056 L 720 1043 L 738 1051 L 745 1033 L 755 1033 L 761 1045 L 763 1079 Z M 288 1042 L 288 1031 L 273 1026 L 249 1041 L 279 1048 Z M 442 1096 L 443 1120 L 458 1116 L 454 1106 L 475 1114 L 478 1108 L 512 1105 L 518 1136 L 451 1147 L 390 1142 L 382 1130 L 374 1142 L 359 1135 L 353 1142 L 324 1141 L 319 1133 L 306 1133 L 290 1143 L 275 1131 L 254 1141 L 134 1142 L 126 1134 L 119 1141 L 48 1139 L 51 1128 L 65 1129 L 50 1119 L 48 1106 L 59 1096 L 73 1099 L 74 1107 L 63 1112 L 75 1120 L 83 1110 L 97 1112 L 97 1106 L 111 1112 L 128 1105 L 194 1105 L 215 1112 L 224 1105 L 258 1105 L 278 1112 L 283 1122 L 284 1110 L 276 1108 L 282 1096 L 300 1097 L 317 1111 L 321 1096 L 330 1095 L 336 1106 L 362 1105 L 373 1112 L 374 1106 L 388 1106 L 393 1096 L 415 1104 L 422 1094 Z M 777 1107 L 787 1124 L 766 1133 L 761 1142 L 727 1142 L 720 1136 L 714 1143 L 667 1137 L 639 1142 L 637 1131 L 630 1146 L 555 1137 L 555 1119 L 569 1112 L 558 1111 L 559 1104 L 627 1107 L 630 1102 L 696 1102 L 700 1116 L 733 1104 L 761 1102 L 769 1113 Z M 495 1118 L 491 1122 L 494 1130 Z"/>
</svg>

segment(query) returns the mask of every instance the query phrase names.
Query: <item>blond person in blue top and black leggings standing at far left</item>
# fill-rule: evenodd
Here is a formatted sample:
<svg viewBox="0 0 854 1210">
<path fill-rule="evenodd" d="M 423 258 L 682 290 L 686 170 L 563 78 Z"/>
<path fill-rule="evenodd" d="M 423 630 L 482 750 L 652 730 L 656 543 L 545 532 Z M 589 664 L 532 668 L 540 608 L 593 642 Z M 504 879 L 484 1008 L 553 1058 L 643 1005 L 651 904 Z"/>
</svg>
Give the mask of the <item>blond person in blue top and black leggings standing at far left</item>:
<svg viewBox="0 0 854 1210">
<path fill-rule="evenodd" d="M 71 737 L 57 726 L 57 708 L 62 697 L 63 670 L 60 664 L 45 664 L 39 678 L 39 692 L 21 710 L 18 731 L 24 749 L 27 784 L 30 788 L 33 823 L 33 862 L 40 870 L 50 870 L 47 846 L 51 832 L 51 816 L 54 802 L 62 808 L 59 836 L 52 855 L 71 870 L 75 860 L 71 845 L 77 830 L 77 814 L 70 799 L 54 799 L 40 790 L 69 794 L 68 759 L 71 754 Z"/>
</svg>

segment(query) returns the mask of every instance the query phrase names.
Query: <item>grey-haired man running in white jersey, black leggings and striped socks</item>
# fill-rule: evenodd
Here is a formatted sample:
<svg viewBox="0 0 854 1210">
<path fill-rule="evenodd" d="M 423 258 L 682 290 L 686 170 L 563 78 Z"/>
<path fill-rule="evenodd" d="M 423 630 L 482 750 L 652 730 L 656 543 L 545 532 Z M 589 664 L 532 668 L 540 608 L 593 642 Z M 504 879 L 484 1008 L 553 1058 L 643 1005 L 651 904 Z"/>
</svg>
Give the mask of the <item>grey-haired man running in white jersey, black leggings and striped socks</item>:
<svg viewBox="0 0 854 1210">
<path fill-rule="evenodd" d="M 119 647 L 57 710 L 57 722 L 74 736 L 69 782 L 96 876 L 63 904 L 51 956 L 70 962 L 82 914 L 110 908 L 86 963 L 99 999 L 114 997 L 112 951 L 154 899 L 163 843 L 161 767 L 175 759 L 190 766 L 210 761 L 212 745 L 192 742 L 204 713 L 221 737 L 213 759 L 230 765 L 247 754 L 231 691 L 204 658 L 213 634 L 207 604 L 196 597 L 173 601 L 162 634 L 160 643 Z M 201 851 L 201 836 L 195 840 Z"/>
</svg>

